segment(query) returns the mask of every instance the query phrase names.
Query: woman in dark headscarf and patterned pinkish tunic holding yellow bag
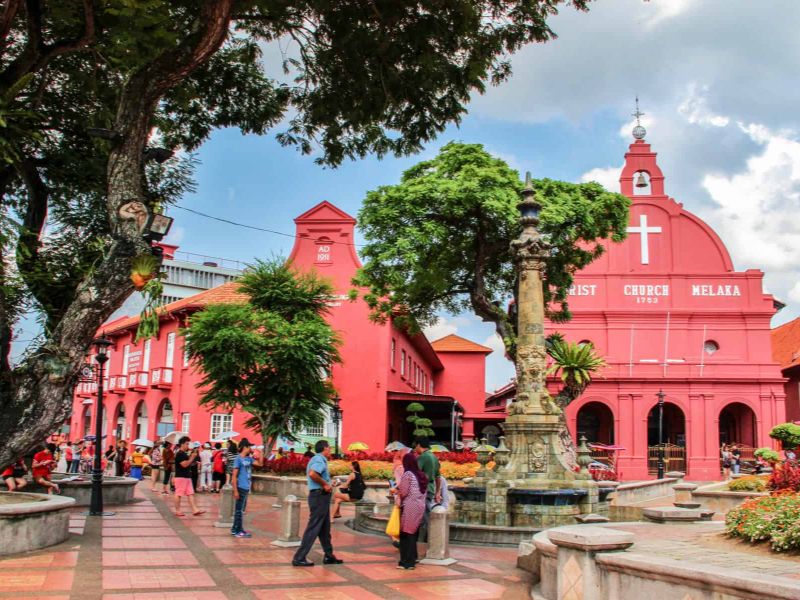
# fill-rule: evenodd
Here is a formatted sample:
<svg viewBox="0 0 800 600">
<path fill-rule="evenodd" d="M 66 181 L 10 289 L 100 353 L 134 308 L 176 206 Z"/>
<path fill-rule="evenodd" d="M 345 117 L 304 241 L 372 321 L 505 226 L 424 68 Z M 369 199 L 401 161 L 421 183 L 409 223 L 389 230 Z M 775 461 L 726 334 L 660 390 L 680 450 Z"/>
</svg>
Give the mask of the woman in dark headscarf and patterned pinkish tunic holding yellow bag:
<svg viewBox="0 0 800 600">
<path fill-rule="evenodd" d="M 437 486 L 438 487 L 438 486 Z M 417 457 L 403 457 L 403 477 L 392 490 L 400 498 L 400 562 L 398 569 L 409 571 L 417 564 L 417 538 L 425 518 L 428 477 L 419 468 Z"/>
</svg>

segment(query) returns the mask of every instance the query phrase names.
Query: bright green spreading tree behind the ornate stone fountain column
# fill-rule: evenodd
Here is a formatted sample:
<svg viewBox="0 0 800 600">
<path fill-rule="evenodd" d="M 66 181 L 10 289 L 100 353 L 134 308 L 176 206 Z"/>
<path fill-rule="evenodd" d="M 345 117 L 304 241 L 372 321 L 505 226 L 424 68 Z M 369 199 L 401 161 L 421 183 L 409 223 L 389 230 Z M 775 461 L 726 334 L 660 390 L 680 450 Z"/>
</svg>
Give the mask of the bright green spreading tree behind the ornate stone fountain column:
<svg viewBox="0 0 800 600">
<path fill-rule="evenodd" d="M 597 183 L 535 181 L 539 230 L 550 244 L 544 298 L 552 321 L 570 318 L 576 271 L 626 236 L 630 200 Z M 359 225 L 367 244 L 354 283 L 376 320 L 395 315 L 406 327 L 433 324 L 438 313 L 470 310 L 491 322 L 514 357 L 516 300 L 510 244 L 520 233 L 519 174 L 480 144 L 449 143 L 408 169 L 397 185 L 367 194 Z M 512 304 L 513 305 L 513 304 Z"/>
</svg>

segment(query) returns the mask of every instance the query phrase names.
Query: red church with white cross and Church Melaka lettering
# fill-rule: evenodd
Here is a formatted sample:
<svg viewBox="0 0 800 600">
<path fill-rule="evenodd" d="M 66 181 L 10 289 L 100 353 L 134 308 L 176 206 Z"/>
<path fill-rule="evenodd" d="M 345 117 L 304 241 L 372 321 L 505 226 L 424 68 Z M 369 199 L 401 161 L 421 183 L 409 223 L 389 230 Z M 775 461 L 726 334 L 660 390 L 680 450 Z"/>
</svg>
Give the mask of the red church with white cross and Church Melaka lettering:
<svg viewBox="0 0 800 600">
<path fill-rule="evenodd" d="M 718 479 L 721 443 L 771 447 L 769 430 L 786 420 L 784 378 L 770 340 L 781 304 L 764 293 L 761 271 L 736 271 L 717 234 L 666 195 L 644 139 L 625 154 L 620 185 L 633 202 L 628 238 L 609 243 L 576 274 L 572 320 L 548 326 L 569 341 L 591 342 L 607 362 L 567 408 L 569 428 L 590 442 L 624 447 L 624 479 L 652 476 L 663 390 L 668 470 Z M 499 420 L 513 397 L 508 385 L 486 409 Z M 488 420 L 478 425 L 496 429 Z"/>
</svg>

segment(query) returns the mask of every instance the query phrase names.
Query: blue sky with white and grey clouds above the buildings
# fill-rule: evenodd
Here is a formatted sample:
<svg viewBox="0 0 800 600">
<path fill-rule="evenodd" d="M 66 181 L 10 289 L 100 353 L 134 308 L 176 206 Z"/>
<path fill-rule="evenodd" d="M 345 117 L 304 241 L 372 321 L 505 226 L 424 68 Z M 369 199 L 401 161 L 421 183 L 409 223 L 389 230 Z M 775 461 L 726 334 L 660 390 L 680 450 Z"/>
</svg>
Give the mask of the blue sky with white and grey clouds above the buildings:
<svg viewBox="0 0 800 600">
<path fill-rule="evenodd" d="M 198 189 L 181 206 L 293 233 L 292 219 L 322 200 L 352 215 L 369 190 L 451 140 L 482 143 L 535 177 L 596 180 L 618 191 L 639 96 L 647 141 L 659 154 L 666 192 L 709 223 L 737 270 L 762 269 L 766 291 L 800 314 L 800 2 L 797 0 L 598 0 L 587 13 L 563 8 L 558 39 L 528 46 L 514 74 L 473 99 L 460 126 L 416 156 L 367 158 L 323 169 L 281 147 L 274 134 L 216 132 L 199 151 Z M 265 67 L 279 73 L 279 54 Z M 204 219 L 179 208 L 170 240 L 181 250 L 249 262 L 288 255 L 292 239 Z M 363 241 L 356 238 L 356 242 Z M 513 375 L 490 325 L 444 315 L 447 333 L 498 351 L 487 390 Z"/>
</svg>

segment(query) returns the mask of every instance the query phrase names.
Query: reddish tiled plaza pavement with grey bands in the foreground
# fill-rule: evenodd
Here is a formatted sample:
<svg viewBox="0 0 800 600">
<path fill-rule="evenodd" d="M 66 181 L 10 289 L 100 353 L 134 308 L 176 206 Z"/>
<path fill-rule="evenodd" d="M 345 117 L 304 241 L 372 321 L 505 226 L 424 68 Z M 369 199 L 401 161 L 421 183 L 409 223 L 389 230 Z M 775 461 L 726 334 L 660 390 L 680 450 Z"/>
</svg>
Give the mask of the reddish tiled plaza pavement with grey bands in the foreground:
<svg viewBox="0 0 800 600">
<path fill-rule="evenodd" d="M 527 574 L 513 549 L 454 547 L 451 567 L 420 565 L 398 571 L 388 538 L 334 527 L 336 554 L 345 564 L 290 566 L 293 550 L 270 546 L 277 537 L 274 499 L 253 496 L 246 526 L 251 539 L 214 528 L 218 496 L 199 495 L 208 512 L 175 517 L 162 496 L 140 484 L 140 502 L 103 519 L 75 510 L 70 539 L 40 552 L 0 559 L 0 598 L 31 600 L 348 600 L 374 598 L 527 599 Z M 303 523 L 306 515 L 303 514 Z"/>
</svg>

